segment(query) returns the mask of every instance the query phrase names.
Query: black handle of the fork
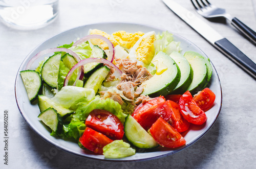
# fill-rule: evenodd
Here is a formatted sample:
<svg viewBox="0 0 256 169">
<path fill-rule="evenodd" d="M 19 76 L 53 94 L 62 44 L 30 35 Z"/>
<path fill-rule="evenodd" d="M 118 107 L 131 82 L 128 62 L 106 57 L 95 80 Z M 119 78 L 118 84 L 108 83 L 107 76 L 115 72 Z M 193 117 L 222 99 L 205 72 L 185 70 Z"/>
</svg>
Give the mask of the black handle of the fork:
<svg viewBox="0 0 256 169">
<path fill-rule="evenodd" d="M 242 32 L 251 42 L 256 44 L 256 33 L 247 27 L 243 22 L 238 18 L 234 17 L 231 21 L 231 24 L 236 27 L 240 32 Z"/>
</svg>

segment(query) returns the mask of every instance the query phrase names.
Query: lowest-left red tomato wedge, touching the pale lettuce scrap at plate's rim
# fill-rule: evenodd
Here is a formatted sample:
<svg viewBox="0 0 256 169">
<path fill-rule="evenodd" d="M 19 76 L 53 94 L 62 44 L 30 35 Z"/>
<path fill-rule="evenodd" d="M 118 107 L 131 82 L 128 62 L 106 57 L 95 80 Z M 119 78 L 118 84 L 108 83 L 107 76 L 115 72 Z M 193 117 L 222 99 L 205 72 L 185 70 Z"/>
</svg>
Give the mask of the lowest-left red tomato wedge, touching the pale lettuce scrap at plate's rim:
<svg viewBox="0 0 256 169">
<path fill-rule="evenodd" d="M 103 147 L 113 140 L 87 127 L 86 130 L 84 130 L 83 135 L 79 138 L 79 141 L 88 150 L 97 154 L 103 154 Z"/>
</svg>

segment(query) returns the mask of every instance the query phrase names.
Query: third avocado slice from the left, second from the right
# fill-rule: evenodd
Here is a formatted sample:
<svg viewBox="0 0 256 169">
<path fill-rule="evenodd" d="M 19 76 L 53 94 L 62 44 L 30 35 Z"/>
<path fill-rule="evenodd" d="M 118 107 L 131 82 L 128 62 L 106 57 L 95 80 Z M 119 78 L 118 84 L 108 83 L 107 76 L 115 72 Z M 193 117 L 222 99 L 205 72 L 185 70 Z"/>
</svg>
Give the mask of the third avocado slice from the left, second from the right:
<svg viewBox="0 0 256 169">
<path fill-rule="evenodd" d="M 202 55 L 191 51 L 186 52 L 184 57 L 193 69 L 193 80 L 186 90 L 193 93 L 200 91 L 207 82 L 206 61 Z"/>
</svg>

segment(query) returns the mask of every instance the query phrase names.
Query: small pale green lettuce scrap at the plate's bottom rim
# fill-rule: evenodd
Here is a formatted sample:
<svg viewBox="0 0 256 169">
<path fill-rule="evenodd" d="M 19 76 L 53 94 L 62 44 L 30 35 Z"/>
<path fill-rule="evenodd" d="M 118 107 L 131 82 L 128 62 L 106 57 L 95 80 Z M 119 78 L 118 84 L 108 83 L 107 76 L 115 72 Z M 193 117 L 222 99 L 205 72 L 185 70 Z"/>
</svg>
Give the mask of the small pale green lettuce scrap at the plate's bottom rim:
<svg viewBox="0 0 256 169">
<path fill-rule="evenodd" d="M 114 140 L 103 147 L 103 155 L 105 158 L 123 158 L 135 154 L 135 149 L 123 140 Z"/>
</svg>

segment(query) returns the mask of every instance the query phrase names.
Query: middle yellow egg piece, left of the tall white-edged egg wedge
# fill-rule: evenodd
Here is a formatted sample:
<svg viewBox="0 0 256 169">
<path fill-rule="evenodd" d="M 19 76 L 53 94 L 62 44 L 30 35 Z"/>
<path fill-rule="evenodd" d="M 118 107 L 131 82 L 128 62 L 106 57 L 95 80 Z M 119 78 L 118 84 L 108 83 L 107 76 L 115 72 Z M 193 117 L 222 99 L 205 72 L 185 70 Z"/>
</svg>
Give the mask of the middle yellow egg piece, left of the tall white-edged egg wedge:
<svg viewBox="0 0 256 169">
<path fill-rule="evenodd" d="M 125 31 L 118 31 L 112 34 L 115 40 L 119 43 L 120 46 L 129 50 L 133 45 L 139 40 L 141 36 L 144 35 L 143 32 L 136 33 L 126 33 Z"/>
</svg>

